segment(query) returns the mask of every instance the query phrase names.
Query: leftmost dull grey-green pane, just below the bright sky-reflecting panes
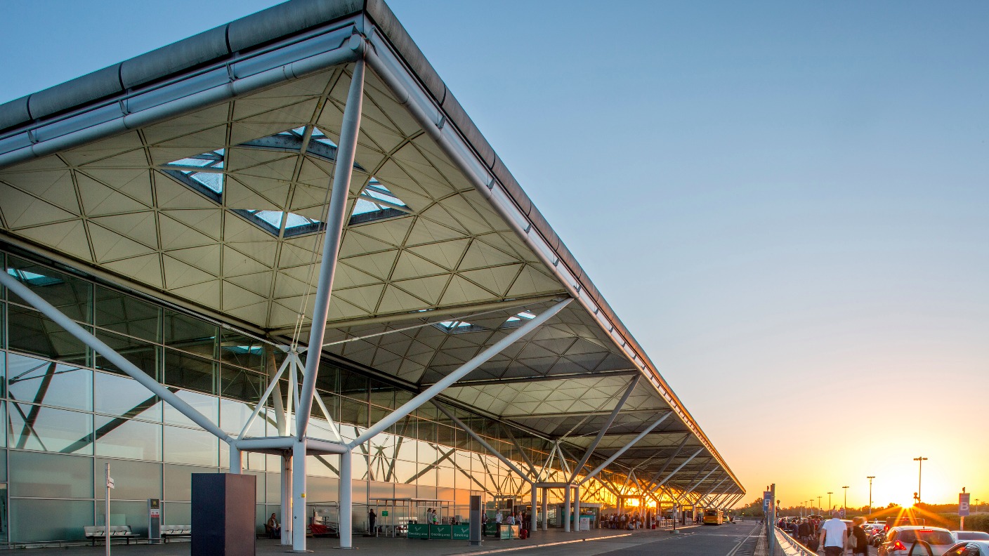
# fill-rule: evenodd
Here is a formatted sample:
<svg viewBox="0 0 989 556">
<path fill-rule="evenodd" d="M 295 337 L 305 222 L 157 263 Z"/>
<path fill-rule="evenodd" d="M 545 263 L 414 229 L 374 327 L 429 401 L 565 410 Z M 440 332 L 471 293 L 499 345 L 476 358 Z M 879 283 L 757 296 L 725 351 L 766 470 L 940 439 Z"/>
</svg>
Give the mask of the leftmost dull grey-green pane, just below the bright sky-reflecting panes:
<svg viewBox="0 0 989 556">
<path fill-rule="evenodd" d="M 10 494 L 15 497 L 92 498 L 93 459 L 12 450 Z"/>
</svg>

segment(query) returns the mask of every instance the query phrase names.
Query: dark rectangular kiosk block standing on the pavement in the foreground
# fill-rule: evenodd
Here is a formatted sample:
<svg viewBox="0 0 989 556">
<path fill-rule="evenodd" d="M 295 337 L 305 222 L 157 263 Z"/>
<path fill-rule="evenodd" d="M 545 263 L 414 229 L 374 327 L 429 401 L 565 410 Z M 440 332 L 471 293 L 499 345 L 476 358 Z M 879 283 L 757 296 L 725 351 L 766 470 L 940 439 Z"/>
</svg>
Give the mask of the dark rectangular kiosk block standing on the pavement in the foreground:
<svg viewBox="0 0 989 556">
<path fill-rule="evenodd" d="M 192 474 L 192 556 L 254 556 L 255 479 Z"/>
</svg>

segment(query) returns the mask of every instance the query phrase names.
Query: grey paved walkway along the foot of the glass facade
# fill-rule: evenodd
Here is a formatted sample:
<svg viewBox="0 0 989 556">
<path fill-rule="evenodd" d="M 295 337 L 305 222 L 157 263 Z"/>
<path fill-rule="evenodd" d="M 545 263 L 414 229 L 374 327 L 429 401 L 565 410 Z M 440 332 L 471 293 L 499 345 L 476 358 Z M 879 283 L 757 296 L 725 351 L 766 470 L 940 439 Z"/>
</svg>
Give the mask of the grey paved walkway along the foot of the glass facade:
<svg viewBox="0 0 989 556">
<path fill-rule="evenodd" d="M 694 526 L 695 527 L 695 526 Z M 684 532 L 690 531 L 692 527 L 680 527 Z M 461 540 L 421 540 L 406 538 L 374 538 L 355 536 L 353 544 L 359 549 L 360 556 L 453 556 L 459 554 L 470 554 L 480 556 L 482 554 L 497 554 L 526 550 L 526 553 L 535 554 L 541 551 L 528 552 L 528 549 L 560 547 L 567 548 L 593 548 L 589 552 L 608 552 L 618 546 L 629 544 L 642 544 L 655 542 L 658 538 L 669 537 L 669 530 L 639 530 L 622 531 L 617 529 L 594 529 L 578 533 L 565 533 L 562 529 L 551 529 L 549 531 L 536 531 L 536 533 L 525 540 L 494 540 L 485 537 L 482 546 L 470 546 L 466 541 Z M 588 543 L 594 543 L 590 547 Z M 599 548 L 597 543 L 600 543 Z M 315 538 L 307 540 L 307 548 L 313 552 L 326 553 L 336 548 L 339 540 L 335 538 Z M 282 556 L 286 552 L 291 552 L 291 547 L 282 546 L 277 540 L 257 539 L 257 556 Z M 136 544 L 111 546 L 112 554 L 116 556 L 188 556 L 191 544 L 189 542 L 173 541 L 168 544 Z M 106 554 L 104 546 L 62 546 L 62 547 L 40 547 L 29 549 L 31 556 L 103 556 Z M 584 550 L 582 550 L 584 551 Z M 336 552 L 339 554 L 339 552 Z"/>
</svg>

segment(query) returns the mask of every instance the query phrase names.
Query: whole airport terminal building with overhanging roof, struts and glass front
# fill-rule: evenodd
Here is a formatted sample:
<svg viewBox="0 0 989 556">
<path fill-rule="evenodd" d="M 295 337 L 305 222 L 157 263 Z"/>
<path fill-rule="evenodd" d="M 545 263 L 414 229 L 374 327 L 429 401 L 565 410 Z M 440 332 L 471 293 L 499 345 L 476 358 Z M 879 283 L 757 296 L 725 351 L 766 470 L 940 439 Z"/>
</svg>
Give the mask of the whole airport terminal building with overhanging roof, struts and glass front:
<svg viewBox="0 0 989 556">
<path fill-rule="evenodd" d="M 112 524 L 249 474 L 296 549 L 395 501 L 569 530 L 745 494 L 378 0 L 0 104 L 0 264 L 3 542 L 106 522 L 107 463 Z"/>
</svg>

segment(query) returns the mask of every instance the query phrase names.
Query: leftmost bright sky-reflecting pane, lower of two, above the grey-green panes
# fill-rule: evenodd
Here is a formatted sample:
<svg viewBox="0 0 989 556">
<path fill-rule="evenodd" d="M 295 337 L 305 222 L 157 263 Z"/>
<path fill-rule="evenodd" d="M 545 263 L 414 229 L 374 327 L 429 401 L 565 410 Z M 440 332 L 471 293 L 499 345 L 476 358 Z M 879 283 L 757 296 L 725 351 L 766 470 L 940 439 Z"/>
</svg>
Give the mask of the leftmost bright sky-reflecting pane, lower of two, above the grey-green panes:
<svg viewBox="0 0 989 556">
<path fill-rule="evenodd" d="M 66 454 L 93 453 L 93 416 L 11 402 L 10 446 Z"/>
</svg>

